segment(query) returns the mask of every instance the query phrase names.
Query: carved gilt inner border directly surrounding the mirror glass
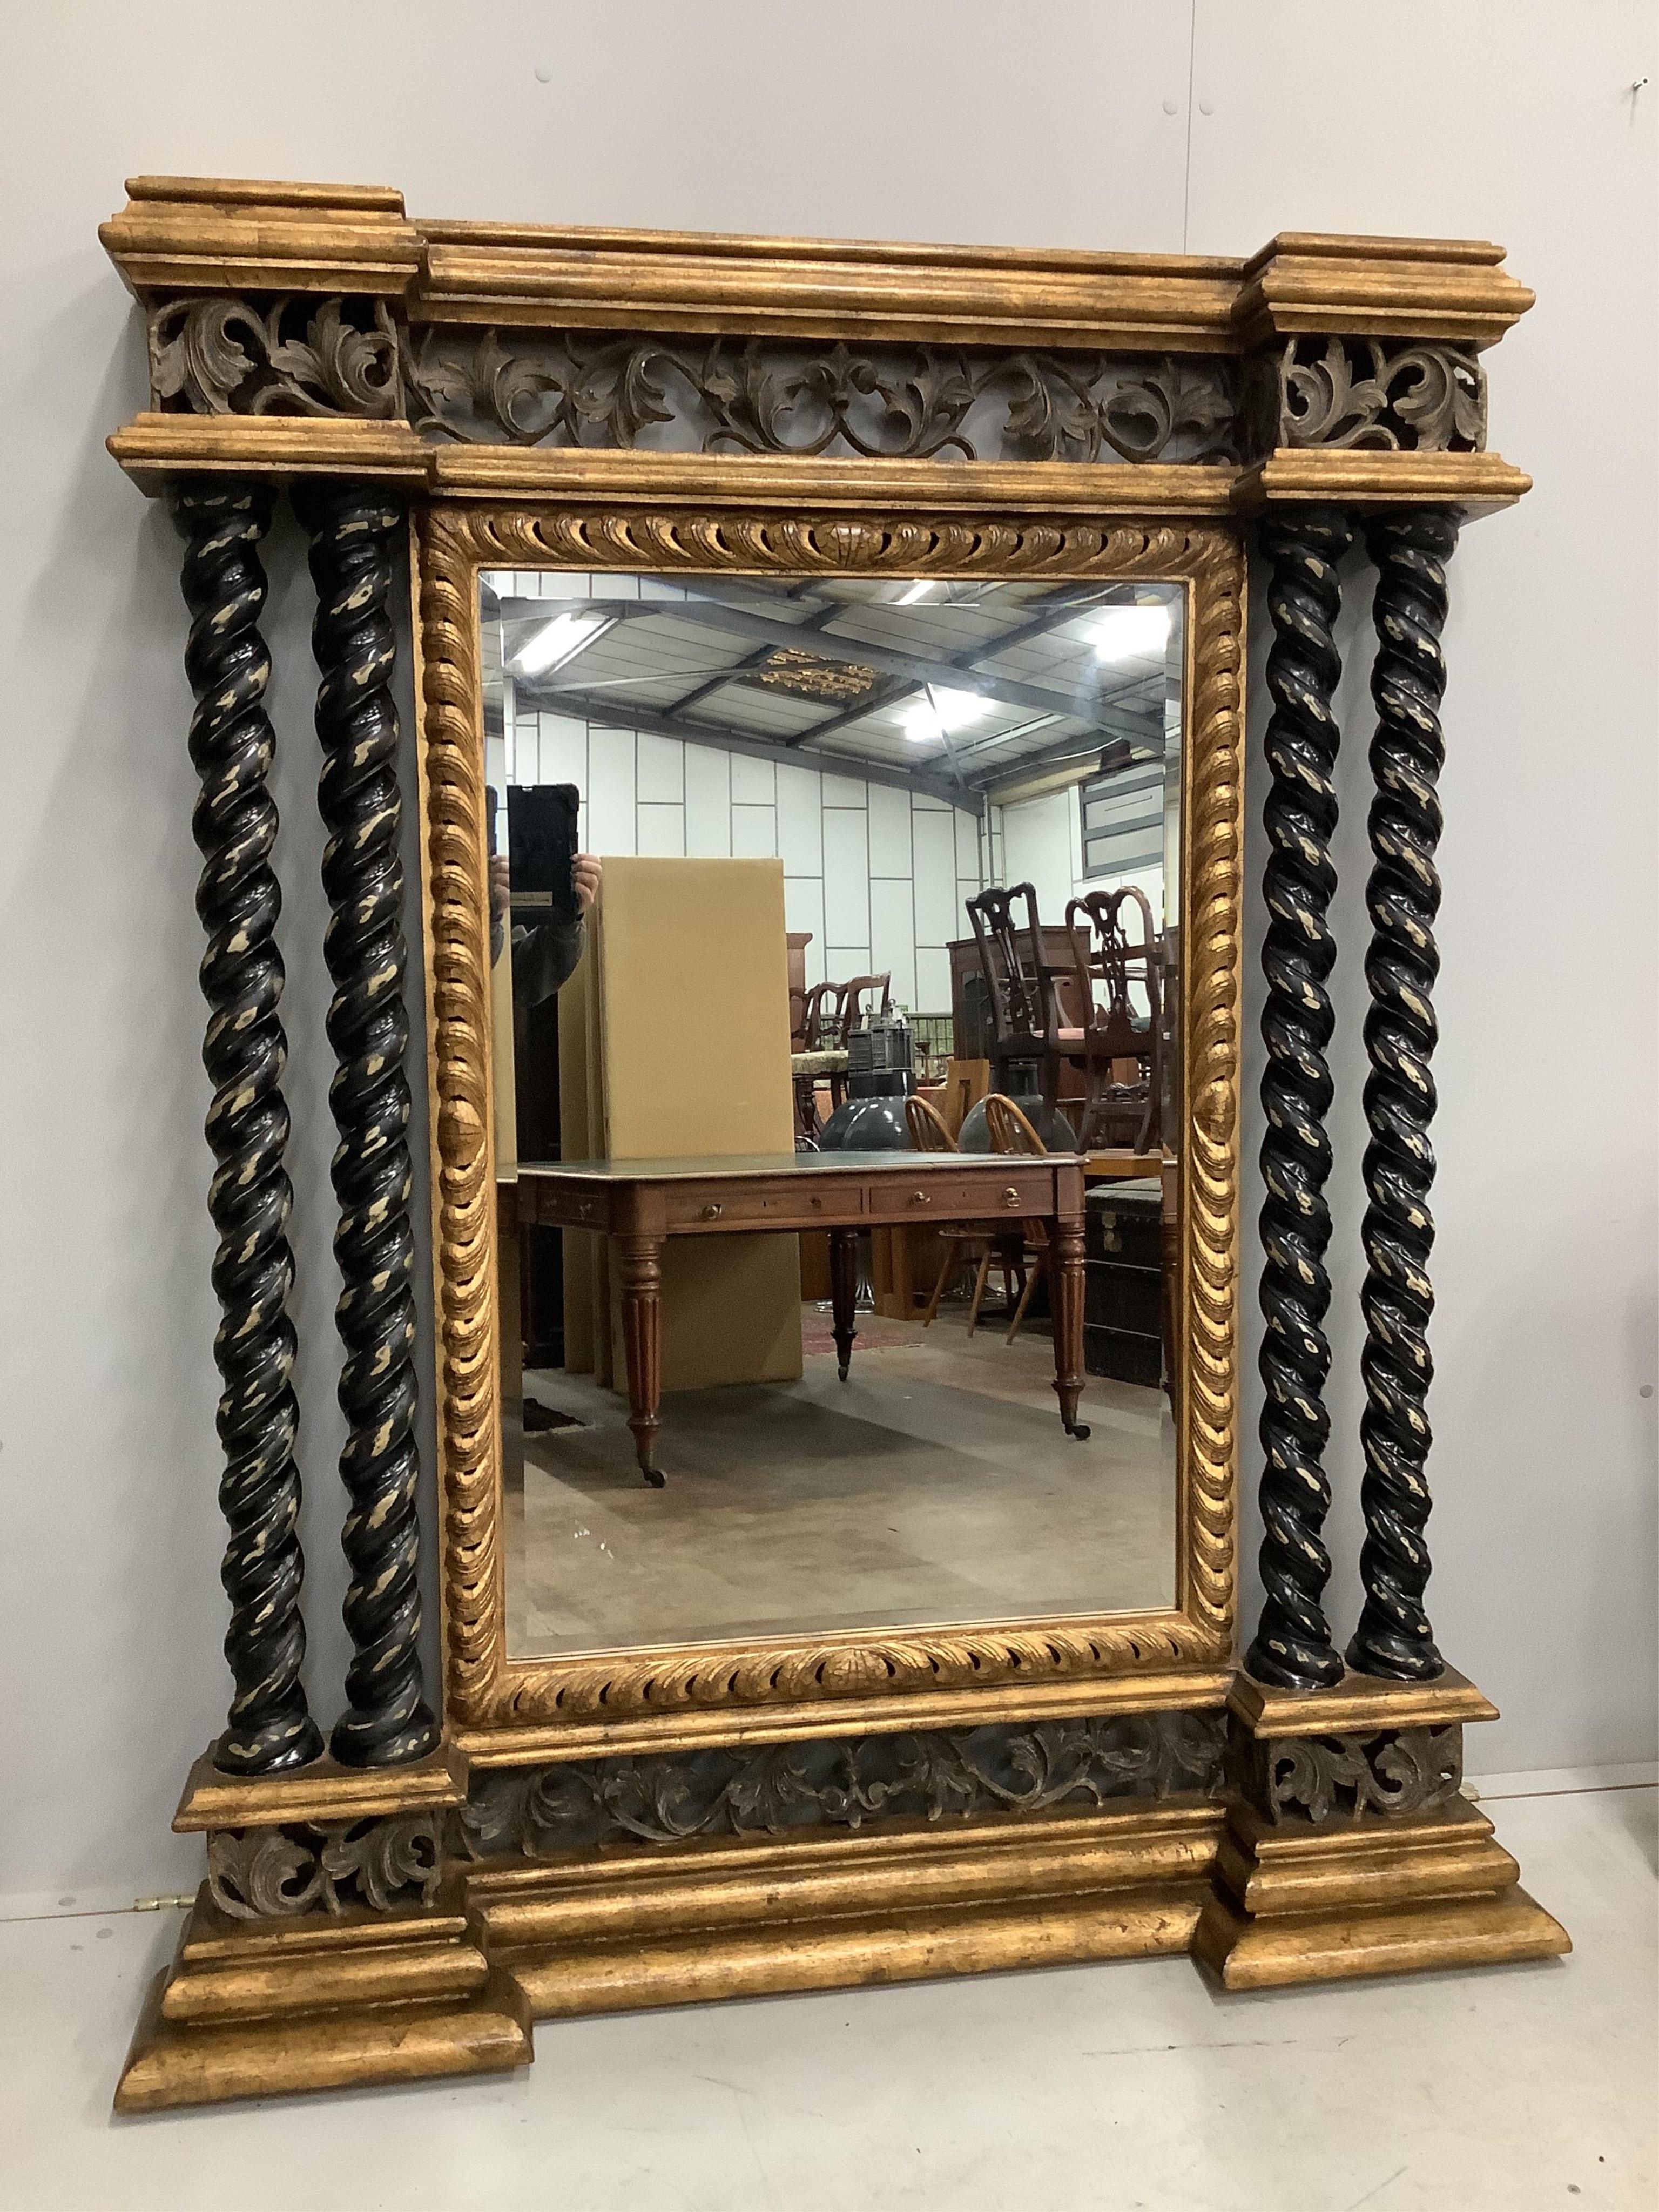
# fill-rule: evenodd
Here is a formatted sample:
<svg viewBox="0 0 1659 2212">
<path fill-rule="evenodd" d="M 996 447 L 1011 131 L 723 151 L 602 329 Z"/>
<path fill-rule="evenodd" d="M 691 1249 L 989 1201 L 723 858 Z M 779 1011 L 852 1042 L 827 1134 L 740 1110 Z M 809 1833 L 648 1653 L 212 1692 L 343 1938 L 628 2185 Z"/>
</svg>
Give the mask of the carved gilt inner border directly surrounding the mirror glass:
<svg viewBox="0 0 1659 2212">
<path fill-rule="evenodd" d="M 449 458 L 449 456 L 445 456 Z M 1234 1610 L 1234 1298 L 1239 1079 L 1239 681 L 1243 555 L 1225 522 L 1115 522 L 1088 471 L 1022 465 L 591 456 L 575 500 L 564 456 L 533 456 L 513 507 L 434 504 L 420 518 L 422 768 L 429 854 L 436 1263 L 445 1374 L 445 1710 L 489 1761 L 540 1725 L 549 1750 L 719 1743 L 741 1717 L 783 1739 L 1037 1719 L 1113 1705 L 1219 1703 Z M 491 460 L 498 456 L 491 453 Z M 535 487 L 535 489 L 531 489 Z M 695 1644 L 513 1661 L 504 1648 L 495 1239 L 484 1051 L 487 909 L 478 575 L 484 568 L 657 575 L 936 575 L 1161 580 L 1186 624 L 1183 958 L 1186 1230 L 1177 1597 L 1155 1613 L 953 1624 L 872 1637 Z M 1113 1677 L 1135 1683 L 1110 1688 Z"/>
</svg>

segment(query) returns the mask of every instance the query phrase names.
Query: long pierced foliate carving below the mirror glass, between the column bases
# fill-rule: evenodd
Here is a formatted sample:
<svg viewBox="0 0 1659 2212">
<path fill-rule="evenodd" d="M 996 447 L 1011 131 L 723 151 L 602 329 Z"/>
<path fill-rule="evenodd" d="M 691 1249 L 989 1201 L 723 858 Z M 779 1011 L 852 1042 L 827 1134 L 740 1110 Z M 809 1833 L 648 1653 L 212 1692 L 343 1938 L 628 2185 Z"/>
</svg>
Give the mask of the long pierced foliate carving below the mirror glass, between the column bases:
<svg viewBox="0 0 1659 2212">
<path fill-rule="evenodd" d="M 487 1772 L 456 1814 L 456 1849 L 551 1858 L 624 1840 L 1208 1796 L 1221 1783 L 1223 1736 L 1219 1712 L 1139 1712 Z"/>
</svg>

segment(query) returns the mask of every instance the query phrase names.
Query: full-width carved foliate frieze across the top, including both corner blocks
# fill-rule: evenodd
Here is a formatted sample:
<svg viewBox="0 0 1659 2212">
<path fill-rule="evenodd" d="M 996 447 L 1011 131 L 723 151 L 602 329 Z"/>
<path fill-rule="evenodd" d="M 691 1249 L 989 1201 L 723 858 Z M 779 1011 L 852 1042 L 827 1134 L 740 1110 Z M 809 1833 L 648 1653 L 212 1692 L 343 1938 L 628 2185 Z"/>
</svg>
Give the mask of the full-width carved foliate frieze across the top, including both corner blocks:
<svg viewBox="0 0 1659 2212">
<path fill-rule="evenodd" d="M 148 310 L 153 405 L 407 418 L 434 442 L 878 460 L 1239 462 L 1276 447 L 1480 453 L 1486 376 L 1444 341 L 1225 354 L 407 330 L 380 299 Z"/>
</svg>

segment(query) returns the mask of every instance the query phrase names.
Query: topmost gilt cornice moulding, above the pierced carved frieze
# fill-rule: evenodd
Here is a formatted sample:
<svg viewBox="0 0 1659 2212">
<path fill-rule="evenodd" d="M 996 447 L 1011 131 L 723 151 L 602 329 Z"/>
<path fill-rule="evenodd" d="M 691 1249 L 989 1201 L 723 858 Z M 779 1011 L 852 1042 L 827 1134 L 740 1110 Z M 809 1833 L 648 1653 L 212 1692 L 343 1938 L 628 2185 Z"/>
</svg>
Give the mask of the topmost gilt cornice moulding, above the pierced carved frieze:
<svg viewBox="0 0 1659 2212">
<path fill-rule="evenodd" d="M 139 299 L 363 292 L 414 323 L 1243 354 L 1279 336 L 1493 345 L 1531 305 L 1480 239 L 1281 232 L 1250 261 L 411 221 L 385 186 L 131 177 L 100 237 Z"/>
</svg>

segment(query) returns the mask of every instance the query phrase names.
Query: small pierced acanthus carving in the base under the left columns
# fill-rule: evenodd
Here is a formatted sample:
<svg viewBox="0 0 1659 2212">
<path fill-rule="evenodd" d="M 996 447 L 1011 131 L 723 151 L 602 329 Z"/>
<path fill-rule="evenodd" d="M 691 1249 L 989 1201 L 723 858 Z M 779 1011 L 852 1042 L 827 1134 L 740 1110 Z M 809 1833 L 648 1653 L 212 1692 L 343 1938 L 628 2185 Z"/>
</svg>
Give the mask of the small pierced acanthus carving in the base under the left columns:
<svg viewBox="0 0 1659 2212">
<path fill-rule="evenodd" d="M 208 1896 L 232 1920 L 376 1913 L 429 1905 L 442 1880 L 442 1814 L 215 1829 Z"/>
</svg>

